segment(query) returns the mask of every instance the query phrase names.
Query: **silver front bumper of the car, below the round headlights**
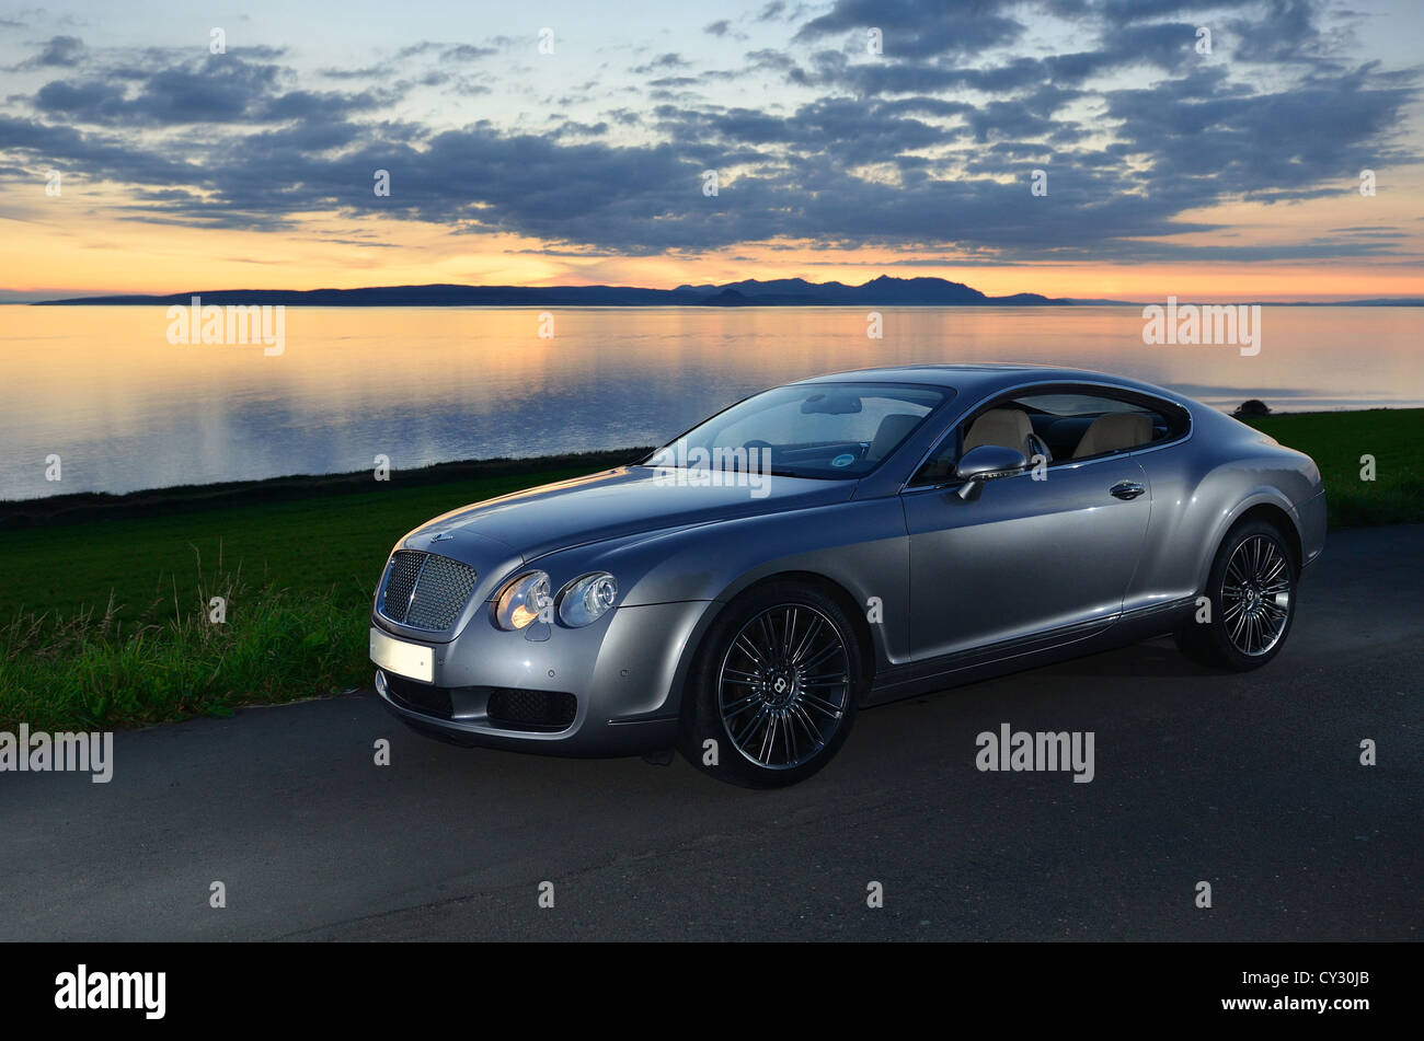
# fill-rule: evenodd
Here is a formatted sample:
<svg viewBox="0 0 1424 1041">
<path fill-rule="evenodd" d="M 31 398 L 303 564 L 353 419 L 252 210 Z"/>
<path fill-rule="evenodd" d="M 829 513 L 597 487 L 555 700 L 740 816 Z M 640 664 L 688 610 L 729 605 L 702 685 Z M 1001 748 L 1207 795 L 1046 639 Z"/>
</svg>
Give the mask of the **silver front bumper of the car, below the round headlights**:
<svg viewBox="0 0 1424 1041">
<path fill-rule="evenodd" d="M 373 614 L 373 629 L 429 647 L 433 658 L 431 683 L 377 668 L 376 690 L 414 730 L 466 747 L 581 757 L 669 748 L 685 651 L 711 606 L 625 606 L 581 629 L 534 623 L 517 633 L 496 629 L 481 610 L 449 643 L 413 641 Z M 520 703 L 558 711 L 511 720 L 508 705 Z"/>
</svg>

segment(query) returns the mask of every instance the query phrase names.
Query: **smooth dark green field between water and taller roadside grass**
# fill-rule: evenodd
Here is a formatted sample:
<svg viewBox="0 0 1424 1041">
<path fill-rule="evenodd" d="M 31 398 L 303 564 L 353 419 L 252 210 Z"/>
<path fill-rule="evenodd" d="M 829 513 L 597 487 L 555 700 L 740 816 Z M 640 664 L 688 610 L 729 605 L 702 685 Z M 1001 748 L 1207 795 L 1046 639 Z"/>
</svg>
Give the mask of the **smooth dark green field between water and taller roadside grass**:
<svg viewBox="0 0 1424 1041">
<path fill-rule="evenodd" d="M 202 562 L 214 575 L 241 573 L 253 589 L 275 586 L 360 606 L 386 553 L 412 528 L 468 502 L 591 474 L 634 455 L 535 459 L 513 472 L 476 471 L 456 481 L 394 474 L 389 484 L 376 484 L 366 475 L 362 484 L 312 479 L 305 491 L 261 482 L 221 505 L 185 496 L 181 512 L 154 513 L 152 495 L 117 496 L 100 508 L 61 505 L 50 516 L 36 516 L 36 503 L 4 503 L 11 516 L 24 511 L 26 526 L 0 530 L 0 621 L 28 613 L 93 614 L 110 600 L 120 621 L 150 619 L 155 609 L 172 607 L 175 590 L 188 606 Z M 436 476 L 444 469 L 430 468 Z M 165 505 L 171 509 L 172 501 Z"/>
</svg>

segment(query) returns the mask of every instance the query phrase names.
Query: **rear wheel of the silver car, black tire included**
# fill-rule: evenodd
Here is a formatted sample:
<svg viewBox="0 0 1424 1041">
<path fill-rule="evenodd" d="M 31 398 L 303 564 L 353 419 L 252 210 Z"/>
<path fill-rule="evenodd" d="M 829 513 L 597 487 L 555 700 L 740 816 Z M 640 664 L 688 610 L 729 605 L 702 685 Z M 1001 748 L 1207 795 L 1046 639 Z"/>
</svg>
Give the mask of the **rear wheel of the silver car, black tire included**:
<svg viewBox="0 0 1424 1041">
<path fill-rule="evenodd" d="M 1247 673 L 1274 658 L 1296 619 L 1300 569 L 1280 529 L 1245 520 L 1222 539 L 1205 596 L 1210 620 L 1176 631 L 1176 646 L 1202 664 Z M 1282 603 L 1284 597 L 1284 603 Z"/>
</svg>

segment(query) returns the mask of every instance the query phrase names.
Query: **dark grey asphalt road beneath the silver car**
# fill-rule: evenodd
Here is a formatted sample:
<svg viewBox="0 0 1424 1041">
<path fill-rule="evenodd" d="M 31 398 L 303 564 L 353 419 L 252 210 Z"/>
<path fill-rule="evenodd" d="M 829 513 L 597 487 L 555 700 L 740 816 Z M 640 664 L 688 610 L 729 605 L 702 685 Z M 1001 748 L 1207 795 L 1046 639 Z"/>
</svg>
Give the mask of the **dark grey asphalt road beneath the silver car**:
<svg viewBox="0 0 1424 1041">
<path fill-rule="evenodd" d="M 1421 576 L 1424 526 L 1334 533 L 1262 673 L 1155 641 L 961 687 L 783 792 L 461 751 L 373 694 L 118 734 L 108 785 L 0 774 L 0 939 L 1420 939 Z M 1095 779 L 980 772 L 1001 722 L 1092 731 Z"/>
</svg>

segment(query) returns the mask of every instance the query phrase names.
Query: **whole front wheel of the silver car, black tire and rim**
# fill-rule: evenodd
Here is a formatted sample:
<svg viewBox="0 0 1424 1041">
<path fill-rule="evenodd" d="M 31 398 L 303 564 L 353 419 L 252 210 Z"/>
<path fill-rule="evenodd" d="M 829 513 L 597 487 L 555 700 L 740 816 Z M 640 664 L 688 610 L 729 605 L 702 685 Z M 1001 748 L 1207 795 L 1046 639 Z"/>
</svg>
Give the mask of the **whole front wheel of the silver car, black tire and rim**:
<svg viewBox="0 0 1424 1041">
<path fill-rule="evenodd" d="M 728 784 L 797 784 L 844 744 L 863 677 L 860 641 L 839 603 L 799 582 L 759 586 L 722 610 L 698 648 L 678 751 Z"/>
</svg>

